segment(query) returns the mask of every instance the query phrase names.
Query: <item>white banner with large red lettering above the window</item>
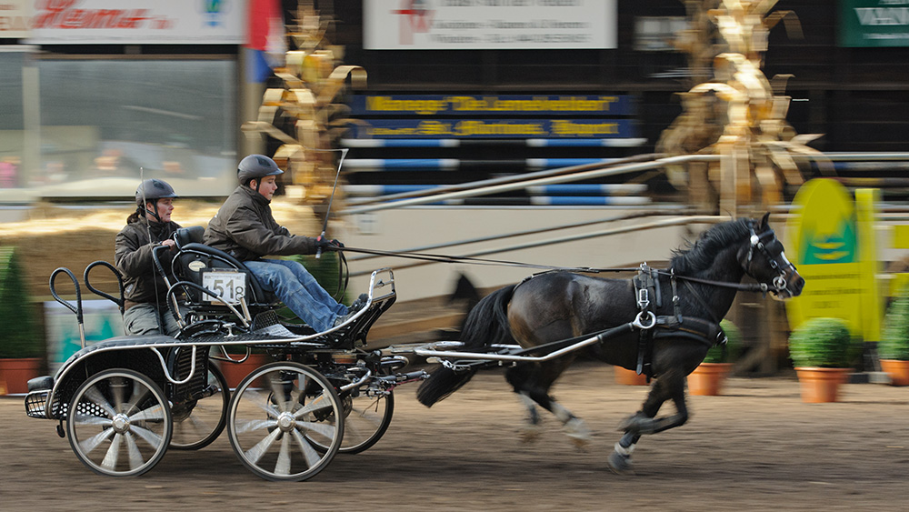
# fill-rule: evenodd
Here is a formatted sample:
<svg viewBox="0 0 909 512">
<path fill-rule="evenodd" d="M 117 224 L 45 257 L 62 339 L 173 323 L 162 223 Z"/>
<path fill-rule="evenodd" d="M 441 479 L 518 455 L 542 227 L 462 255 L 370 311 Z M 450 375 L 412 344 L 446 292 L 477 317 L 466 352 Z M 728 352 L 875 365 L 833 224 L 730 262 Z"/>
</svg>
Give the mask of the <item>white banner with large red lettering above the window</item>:
<svg viewBox="0 0 909 512">
<path fill-rule="evenodd" d="M 245 42 L 244 0 L 32 0 L 32 5 L 28 43 L 35 45 Z"/>
</svg>

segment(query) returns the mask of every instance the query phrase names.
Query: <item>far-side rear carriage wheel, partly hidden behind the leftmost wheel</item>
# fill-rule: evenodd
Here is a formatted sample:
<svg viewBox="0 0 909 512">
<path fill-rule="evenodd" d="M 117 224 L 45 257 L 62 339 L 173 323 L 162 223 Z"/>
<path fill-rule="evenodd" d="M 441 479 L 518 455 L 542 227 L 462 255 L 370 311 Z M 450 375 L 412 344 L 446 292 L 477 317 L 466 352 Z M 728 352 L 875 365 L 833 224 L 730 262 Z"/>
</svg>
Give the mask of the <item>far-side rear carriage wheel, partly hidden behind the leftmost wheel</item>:
<svg viewBox="0 0 909 512">
<path fill-rule="evenodd" d="M 197 450 L 212 444 L 227 425 L 227 406 L 230 391 L 227 380 L 215 365 L 208 366 L 202 397 L 186 404 L 171 407 L 174 435 L 170 447 L 177 450 Z"/>
</svg>

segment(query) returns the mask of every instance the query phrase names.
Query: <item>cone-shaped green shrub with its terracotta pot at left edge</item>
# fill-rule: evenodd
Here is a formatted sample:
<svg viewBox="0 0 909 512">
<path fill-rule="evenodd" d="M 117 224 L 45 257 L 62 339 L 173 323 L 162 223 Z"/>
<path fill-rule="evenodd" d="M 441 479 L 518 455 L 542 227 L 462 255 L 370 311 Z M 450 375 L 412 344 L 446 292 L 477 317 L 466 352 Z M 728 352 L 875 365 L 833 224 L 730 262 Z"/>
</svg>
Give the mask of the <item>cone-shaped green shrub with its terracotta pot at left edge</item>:
<svg viewBox="0 0 909 512">
<path fill-rule="evenodd" d="M 27 393 L 39 376 L 45 338 L 15 247 L 0 247 L 0 395 Z"/>
</svg>

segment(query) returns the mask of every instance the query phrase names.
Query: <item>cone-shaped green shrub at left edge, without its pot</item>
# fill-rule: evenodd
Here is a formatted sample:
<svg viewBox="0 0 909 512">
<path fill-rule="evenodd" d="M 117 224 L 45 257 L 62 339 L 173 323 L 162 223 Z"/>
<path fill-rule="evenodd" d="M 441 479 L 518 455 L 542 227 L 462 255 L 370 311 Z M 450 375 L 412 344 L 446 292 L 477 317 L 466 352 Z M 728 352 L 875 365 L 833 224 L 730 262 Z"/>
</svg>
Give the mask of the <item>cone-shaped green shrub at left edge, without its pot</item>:
<svg viewBox="0 0 909 512">
<path fill-rule="evenodd" d="M 0 358 L 40 357 L 44 345 L 15 247 L 0 247 Z"/>
</svg>

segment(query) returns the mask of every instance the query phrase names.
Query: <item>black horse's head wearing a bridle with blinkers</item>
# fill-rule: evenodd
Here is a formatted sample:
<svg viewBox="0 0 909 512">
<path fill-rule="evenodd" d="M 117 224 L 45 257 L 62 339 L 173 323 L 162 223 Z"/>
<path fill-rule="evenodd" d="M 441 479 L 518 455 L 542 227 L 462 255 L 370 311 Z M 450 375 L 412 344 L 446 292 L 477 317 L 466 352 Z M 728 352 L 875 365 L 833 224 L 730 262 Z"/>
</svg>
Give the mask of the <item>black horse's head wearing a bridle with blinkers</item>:
<svg viewBox="0 0 909 512">
<path fill-rule="evenodd" d="M 786 259 L 783 244 L 767 223 L 769 217 L 768 212 L 759 223 L 751 223 L 751 236 L 747 246 L 739 252 L 739 261 L 747 275 L 766 285 L 767 291 L 775 296 L 798 296 L 802 293 L 804 279 Z"/>
</svg>

